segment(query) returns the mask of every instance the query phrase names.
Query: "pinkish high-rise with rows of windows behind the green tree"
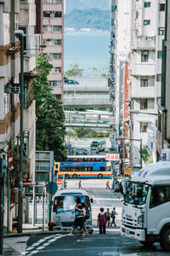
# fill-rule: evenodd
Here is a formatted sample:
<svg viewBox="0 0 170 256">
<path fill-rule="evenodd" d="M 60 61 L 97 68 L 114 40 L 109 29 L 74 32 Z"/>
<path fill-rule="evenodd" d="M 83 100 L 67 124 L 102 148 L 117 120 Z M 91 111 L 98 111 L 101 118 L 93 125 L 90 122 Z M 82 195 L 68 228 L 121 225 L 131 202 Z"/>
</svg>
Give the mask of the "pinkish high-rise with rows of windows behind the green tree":
<svg viewBox="0 0 170 256">
<path fill-rule="evenodd" d="M 42 54 L 53 69 L 48 75 L 53 94 L 63 99 L 64 78 L 64 0 L 42 0 Z"/>
</svg>

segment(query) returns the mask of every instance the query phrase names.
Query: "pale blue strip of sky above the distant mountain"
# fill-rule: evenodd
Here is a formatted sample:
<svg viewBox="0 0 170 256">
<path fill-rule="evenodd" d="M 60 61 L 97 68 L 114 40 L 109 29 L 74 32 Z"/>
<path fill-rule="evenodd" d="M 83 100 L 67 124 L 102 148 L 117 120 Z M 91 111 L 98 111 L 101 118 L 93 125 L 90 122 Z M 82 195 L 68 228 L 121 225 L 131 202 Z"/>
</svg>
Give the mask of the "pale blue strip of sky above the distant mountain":
<svg viewBox="0 0 170 256">
<path fill-rule="evenodd" d="M 111 0 L 65 0 L 66 14 L 74 9 L 110 9 Z"/>
</svg>

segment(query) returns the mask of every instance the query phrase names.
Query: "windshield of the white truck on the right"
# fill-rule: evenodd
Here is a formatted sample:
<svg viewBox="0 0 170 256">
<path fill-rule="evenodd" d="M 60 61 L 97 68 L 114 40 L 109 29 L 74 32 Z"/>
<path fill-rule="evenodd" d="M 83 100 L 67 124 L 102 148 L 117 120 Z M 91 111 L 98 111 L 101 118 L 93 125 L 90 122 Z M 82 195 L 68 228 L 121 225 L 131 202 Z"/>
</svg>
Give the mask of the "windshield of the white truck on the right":
<svg viewBox="0 0 170 256">
<path fill-rule="evenodd" d="M 143 205 L 148 195 L 149 185 L 144 183 L 129 183 L 124 201 L 129 204 Z"/>
</svg>

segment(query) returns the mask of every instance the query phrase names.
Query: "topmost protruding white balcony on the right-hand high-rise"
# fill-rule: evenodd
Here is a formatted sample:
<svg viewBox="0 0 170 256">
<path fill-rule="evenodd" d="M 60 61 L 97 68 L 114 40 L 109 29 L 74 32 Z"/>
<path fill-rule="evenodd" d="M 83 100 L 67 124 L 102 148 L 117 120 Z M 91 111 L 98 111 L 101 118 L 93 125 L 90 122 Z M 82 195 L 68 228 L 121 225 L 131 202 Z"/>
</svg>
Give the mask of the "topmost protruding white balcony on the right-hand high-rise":
<svg viewBox="0 0 170 256">
<path fill-rule="evenodd" d="M 156 49 L 156 37 L 136 37 L 133 38 L 133 50 Z"/>
</svg>

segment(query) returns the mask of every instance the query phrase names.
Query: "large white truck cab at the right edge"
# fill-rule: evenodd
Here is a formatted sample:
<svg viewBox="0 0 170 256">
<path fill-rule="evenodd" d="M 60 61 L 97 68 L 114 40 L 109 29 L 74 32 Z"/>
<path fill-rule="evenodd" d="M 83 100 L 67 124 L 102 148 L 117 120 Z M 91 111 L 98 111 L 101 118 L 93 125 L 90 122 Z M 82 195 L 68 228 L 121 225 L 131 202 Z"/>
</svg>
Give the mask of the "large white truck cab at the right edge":
<svg viewBox="0 0 170 256">
<path fill-rule="evenodd" d="M 170 251 L 170 161 L 159 161 L 131 178 L 122 207 L 123 236 L 144 246 L 158 241 Z"/>
</svg>

